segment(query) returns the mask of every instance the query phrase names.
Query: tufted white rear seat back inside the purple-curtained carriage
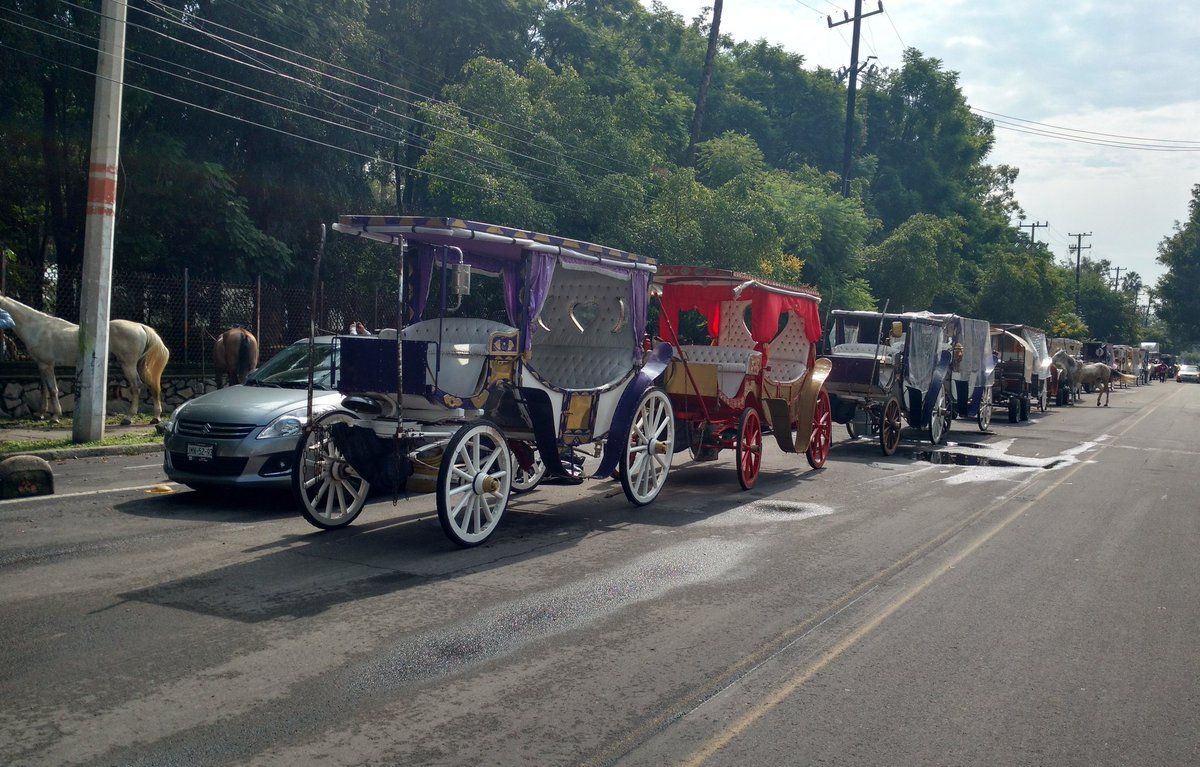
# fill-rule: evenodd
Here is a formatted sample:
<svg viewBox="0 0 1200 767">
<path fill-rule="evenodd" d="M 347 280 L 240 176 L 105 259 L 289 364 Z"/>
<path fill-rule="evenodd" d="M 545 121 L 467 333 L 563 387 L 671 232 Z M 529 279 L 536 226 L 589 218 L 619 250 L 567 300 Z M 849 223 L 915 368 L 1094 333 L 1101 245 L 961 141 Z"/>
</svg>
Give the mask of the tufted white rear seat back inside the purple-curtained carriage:
<svg viewBox="0 0 1200 767">
<path fill-rule="evenodd" d="M 552 387 L 600 389 L 634 370 L 635 348 L 625 317 L 629 282 L 606 274 L 559 265 L 533 336 L 529 367 Z M 595 304 L 595 319 L 583 329 L 571 319 L 576 304 Z"/>
</svg>

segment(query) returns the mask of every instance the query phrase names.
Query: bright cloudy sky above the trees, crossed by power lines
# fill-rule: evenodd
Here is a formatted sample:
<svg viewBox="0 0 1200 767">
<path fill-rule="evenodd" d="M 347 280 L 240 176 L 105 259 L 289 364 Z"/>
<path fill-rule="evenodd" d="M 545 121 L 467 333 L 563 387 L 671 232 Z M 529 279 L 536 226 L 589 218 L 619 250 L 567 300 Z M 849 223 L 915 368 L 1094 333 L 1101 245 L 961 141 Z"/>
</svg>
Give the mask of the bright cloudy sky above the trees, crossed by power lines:
<svg viewBox="0 0 1200 767">
<path fill-rule="evenodd" d="M 712 5 L 661 1 L 686 19 Z M 876 1 L 864 0 L 864 12 Z M 877 64 L 894 67 L 904 48 L 914 47 L 959 73 L 973 108 L 1200 148 L 1200 19 L 1188 4 L 883 0 L 883 7 L 863 22 L 860 59 L 877 55 Z M 812 68 L 836 70 L 850 62 L 851 25 L 829 29 L 826 14 L 838 22 L 842 11 L 853 12 L 853 0 L 726 0 L 721 31 L 766 37 Z M 1157 280 L 1158 244 L 1187 217 L 1200 151 L 1098 146 L 998 125 L 995 134 L 988 162 L 1020 168 L 1018 202 L 1027 221 L 1050 223 L 1037 238 L 1060 260 L 1074 259 L 1070 233 L 1091 232 L 1086 256 Z"/>
</svg>

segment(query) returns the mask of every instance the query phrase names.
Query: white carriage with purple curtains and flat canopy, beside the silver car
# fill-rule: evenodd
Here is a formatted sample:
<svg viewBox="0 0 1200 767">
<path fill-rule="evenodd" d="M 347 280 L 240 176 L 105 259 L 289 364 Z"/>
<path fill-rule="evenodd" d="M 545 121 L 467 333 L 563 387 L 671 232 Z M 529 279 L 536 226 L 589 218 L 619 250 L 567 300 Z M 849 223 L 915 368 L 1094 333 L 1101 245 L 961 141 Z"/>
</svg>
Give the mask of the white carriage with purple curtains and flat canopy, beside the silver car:
<svg viewBox="0 0 1200 767">
<path fill-rule="evenodd" d="M 457 218 L 342 216 L 334 228 L 400 246 L 402 330 L 337 340 L 334 385 L 354 417 L 306 427 L 293 489 L 310 522 L 342 527 L 372 487 L 398 495 L 436 475 L 443 529 L 474 546 L 515 489 L 582 481 L 588 447 L 592 477 L 616 472 L 638 505 L 658 496 L 674 419 L 653 385 L 671 347 L 642 343 L 653 260 Z M 505 322 L 454 316 L 473 275 L 498 281 Z"/>
</svg>

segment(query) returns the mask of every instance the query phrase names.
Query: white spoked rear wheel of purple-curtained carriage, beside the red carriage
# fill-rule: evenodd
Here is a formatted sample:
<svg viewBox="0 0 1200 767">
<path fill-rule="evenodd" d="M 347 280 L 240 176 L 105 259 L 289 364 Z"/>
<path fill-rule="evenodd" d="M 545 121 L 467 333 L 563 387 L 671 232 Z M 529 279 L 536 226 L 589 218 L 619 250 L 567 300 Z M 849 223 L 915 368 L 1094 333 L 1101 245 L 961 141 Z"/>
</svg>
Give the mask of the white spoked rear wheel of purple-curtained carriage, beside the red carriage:
<svg viewBox="0 0 1200 767">
<path fill-rule="evenodd" d="M 620 486 L 629 502 L 644 507 L 667 481 L 674 457 L 674 411 L 665 391 L 647 389 L 637 401 L 629 444 L 620 456 Z"/>
</svg>

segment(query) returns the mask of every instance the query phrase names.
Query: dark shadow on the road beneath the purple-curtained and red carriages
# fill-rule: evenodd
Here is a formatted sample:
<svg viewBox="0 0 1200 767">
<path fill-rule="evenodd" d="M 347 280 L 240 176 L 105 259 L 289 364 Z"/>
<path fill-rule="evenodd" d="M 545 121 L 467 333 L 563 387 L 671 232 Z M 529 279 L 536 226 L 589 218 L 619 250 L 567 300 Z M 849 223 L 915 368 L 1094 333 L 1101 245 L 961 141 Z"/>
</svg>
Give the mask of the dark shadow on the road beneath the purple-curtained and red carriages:
<svg viewBox="0 0 1200 767">
<path fill-rule="evenodd" d="M 803 469 L 763 471 L 750 492 L 739 490 L 728 462 L 677 466 L 662 495 L 642 508 L 629 504 L 620 486 L 610 481 L 595 483 L 588 497 L 568 503 L 551 503 L 548 490 L 535 490 L 510 502 L 492 540 L 467 550 L 446 540 L 432 513 L 432 496 L 419 496 L 424 508 L 407 505 L 400 515 L 388 503 L 372 503 L 361 521 L 349 527 L 284 534 L 242 549 L 257 555 L 252 559 L 119 597 L 246 623 L 314 616 L 337 605 L 516 565 L 634 523 L 684 527 L 820 478 L 822 472 L 809 469 L 803 456 L 797 457 Z M 130 514 L 164 519 L 247 515 L 262 520 L 264 514 L 294 514 L 290 505 L 253 513 L 205 509 L 184 493 L 179 499 L 157 497 L 122 505 Z"/>
</svg>

